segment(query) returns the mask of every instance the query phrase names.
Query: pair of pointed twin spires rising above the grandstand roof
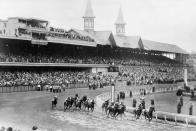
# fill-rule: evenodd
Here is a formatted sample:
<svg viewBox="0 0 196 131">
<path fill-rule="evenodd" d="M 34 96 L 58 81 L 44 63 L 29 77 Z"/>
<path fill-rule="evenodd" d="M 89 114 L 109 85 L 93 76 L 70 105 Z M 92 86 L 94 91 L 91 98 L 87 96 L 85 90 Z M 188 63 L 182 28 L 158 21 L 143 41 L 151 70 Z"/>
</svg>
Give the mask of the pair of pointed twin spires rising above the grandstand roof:
<svg viewBox="0 0 196 131">
<path fill-rule="evenodd" d="M 83 19 L 84 19 L 84 30 L 87 32 L 93 33 L 95 15 L 94 15 L 90 0 L 87 0 L 86 10 L 85 10 Z M 119 13 L 118 13 L 118 17 L 116 19 L 115 25 L 116 25 L 116 35 L 124 36 L 126 23 L 123 18 L 121 6 L 119 9 Z"/>
</svg>

